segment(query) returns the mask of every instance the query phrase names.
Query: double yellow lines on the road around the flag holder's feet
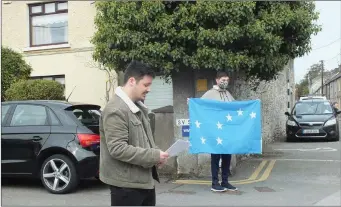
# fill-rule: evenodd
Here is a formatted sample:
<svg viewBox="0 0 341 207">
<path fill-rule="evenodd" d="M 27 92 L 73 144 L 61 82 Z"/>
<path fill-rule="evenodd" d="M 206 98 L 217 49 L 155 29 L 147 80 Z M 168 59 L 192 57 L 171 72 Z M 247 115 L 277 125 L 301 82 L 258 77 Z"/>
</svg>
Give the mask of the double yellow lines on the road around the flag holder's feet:
<svg viewBox="0 0 341 207">
<path fill-rule="evenodd" d="M 250 183 L 262 182 L 268 179 L 272 169 L 274 168 L 276 160 L 263 160 L 257 167 L 257 169 L 252 173 L 252 175 L 248 179 L 244 180 L 233 180 L 230 181 L 231 184 L 243 185 Z M 267 165 L 268 164 L 268 165 Z M 265 168 L 263 174 L 259 177 L 259 174 Z M 259 177 L 259 178 L 258 178 Z M 257 179 L 258 178 L 258 179 Z M 174 184 L 192 184 L 192 185 L 211 185 L 212 181 L 208 180 L 176 180 L 173 182 Z"/>
</svg>

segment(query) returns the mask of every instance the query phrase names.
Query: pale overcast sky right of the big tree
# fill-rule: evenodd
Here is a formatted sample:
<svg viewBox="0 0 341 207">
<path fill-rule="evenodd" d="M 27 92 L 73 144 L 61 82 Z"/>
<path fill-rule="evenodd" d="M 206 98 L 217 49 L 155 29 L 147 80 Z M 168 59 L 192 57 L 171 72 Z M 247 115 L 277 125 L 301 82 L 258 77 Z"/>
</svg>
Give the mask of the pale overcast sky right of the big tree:
<svg viewBox="0 0 341 207">
<path fill-rule="evenodd" d="M 296 83 L 302 80 L 311 65 L 320 60 L 325 61 L 325 70 L 334 69 L 341 64 L 341 1 L 315 1 L 315 5 L 316 11 L 320 12 L 318 24 L 322 26 L 322 31 L 312 36 L 313 50 L 295 59 Z"/>
</svg>

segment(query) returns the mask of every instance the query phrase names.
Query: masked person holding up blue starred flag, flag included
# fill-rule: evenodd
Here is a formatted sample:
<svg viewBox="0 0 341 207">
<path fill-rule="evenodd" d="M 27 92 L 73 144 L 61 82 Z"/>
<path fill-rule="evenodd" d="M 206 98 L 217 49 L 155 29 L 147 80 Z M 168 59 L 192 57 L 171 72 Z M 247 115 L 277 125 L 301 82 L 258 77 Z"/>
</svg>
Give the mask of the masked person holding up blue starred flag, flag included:
<svg viewBox="0 0 341 207">
<path fill-rule="evenodd" d="M 226 72 L 218 72 L 216 82 L 201 99 L 188 101 L 189 151 L 211 154 L 212 191 L 236 191 L 228 182 L 231 154 L 260 154 L 262 151 L 260 100 L 235 101 L 227 90 Z M 220 159 L 221 183 L 218 178 Z"/>
</svg>

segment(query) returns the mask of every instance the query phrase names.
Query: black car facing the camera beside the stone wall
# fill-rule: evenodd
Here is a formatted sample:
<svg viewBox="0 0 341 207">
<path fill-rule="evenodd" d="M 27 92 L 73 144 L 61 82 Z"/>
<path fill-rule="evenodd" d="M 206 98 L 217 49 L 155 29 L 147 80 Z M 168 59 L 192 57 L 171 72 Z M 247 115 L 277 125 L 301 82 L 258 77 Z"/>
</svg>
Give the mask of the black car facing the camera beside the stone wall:
<svg viewBox="0 0 341 207">
<path fill-rule="evenodd" d="M 294 108 L 285 112 L 287 141 L 325 139 L 338 141 L 339 121 L 336 111 L 327 100 L 310 99 L 296 102 Z"/>
</svg>

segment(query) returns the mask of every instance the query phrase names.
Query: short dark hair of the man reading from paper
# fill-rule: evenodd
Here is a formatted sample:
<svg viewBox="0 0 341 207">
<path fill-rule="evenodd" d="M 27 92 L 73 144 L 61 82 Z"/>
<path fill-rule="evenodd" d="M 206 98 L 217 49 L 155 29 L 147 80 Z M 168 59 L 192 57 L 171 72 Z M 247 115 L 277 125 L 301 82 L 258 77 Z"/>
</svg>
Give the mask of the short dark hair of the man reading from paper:
<svg viewBox="0 0 341 207">
<path fill-rule="evenodd" d="M 129 63 L 124 72 L 124 84 L 126 84 L 131 77 L 135 78 L 136 82 L 139 82 L 146 75 L 155 78 L 155 73 L 148 64 L 133 60 Z"/>
</svg>

